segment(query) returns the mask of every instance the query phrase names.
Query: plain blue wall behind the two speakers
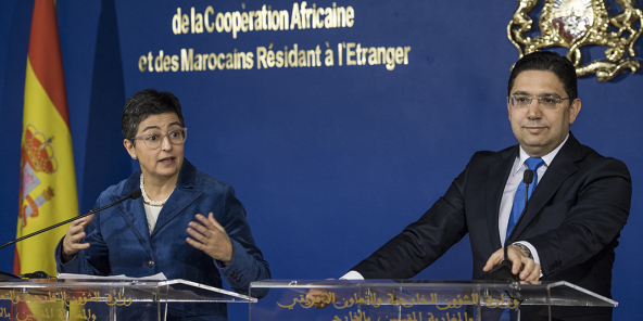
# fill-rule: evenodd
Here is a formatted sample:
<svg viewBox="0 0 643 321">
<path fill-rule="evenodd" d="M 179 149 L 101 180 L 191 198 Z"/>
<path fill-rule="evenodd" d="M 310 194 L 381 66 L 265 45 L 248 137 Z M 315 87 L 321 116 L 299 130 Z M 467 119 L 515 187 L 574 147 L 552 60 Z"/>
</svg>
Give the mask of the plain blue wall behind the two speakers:
<svg viewBox="0 0 643 321">
<path fill-rule="evenodd" d="M 505 105 L 509 67 L 518 59 L 506 38 L 516 1 L 336 1 L 354 9 L 352 27 L 255 30 L 236 39 L 231 33 L 175 35 L 172 18 L 177 7 L 189 14 L 212 5 L 216 14 L 266 4 L 290 13 L 294 2 L 56 2 L 80 210 L 138 166 L 122 147 L 125 99 L 150 87 L 169 90 L 185 108 L 186 156 L 236 188 L 275 279 L 340 277 L 428 209 L 475 151 L 516 143 Z M 0 11 L 0 242 L 15 235 L 31 5 L 5 0 Z M 326 42 L 333 66 L 324 65 Z M 393 70 L 346 65 L 344 52 L 339 66 L 340 42 L 411 47 L 408 63 Z M 273 50 L 319 46 L 323 66 L 257 69 L 257 47 L 270 43 Z M 254 65 L 139 70 L 141 55 L 163 50 L 180 57 L 190 48 L 253 52 Z M 584 53 L 602 57 L 601 51 Z M 582 111 L 572 126 L 582 143 L 622 159 L 632 174 L 632 209 L 614 268 L 615 320 L 643 311 L 643 204 L 636 197 L 643 172 L 635 166 L 643 158 L 642 90 L 641 73 L 607 84 L 581 78 Z M 13 248 L 1 255 L 0 269 L 11 270 Z M 417 278 L 470 273 L 464 240 Z M 247 307 L 230 308 L 231 317 L 247 318 Z"/>
</svg>

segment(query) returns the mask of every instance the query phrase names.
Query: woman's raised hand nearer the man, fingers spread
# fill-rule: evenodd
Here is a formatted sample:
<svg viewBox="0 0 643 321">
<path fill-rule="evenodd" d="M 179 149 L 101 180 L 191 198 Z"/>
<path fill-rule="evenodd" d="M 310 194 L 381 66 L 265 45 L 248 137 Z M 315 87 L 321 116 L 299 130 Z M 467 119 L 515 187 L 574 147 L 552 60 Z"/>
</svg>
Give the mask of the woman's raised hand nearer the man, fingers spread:
<svg viewBox="0 0 643 321">
<path fill-rule="evenodd" d="M 188 234 L 192 237 L 188 237 L 186 241 L 224 265 L 230 264 L 232 261 L 232 243 L 224 227 L 214 219 L 212 211 L 207 217 L 197 214 L 194 218 L 200 223 L 191 221 L 188 224 Z"/>
</svg>

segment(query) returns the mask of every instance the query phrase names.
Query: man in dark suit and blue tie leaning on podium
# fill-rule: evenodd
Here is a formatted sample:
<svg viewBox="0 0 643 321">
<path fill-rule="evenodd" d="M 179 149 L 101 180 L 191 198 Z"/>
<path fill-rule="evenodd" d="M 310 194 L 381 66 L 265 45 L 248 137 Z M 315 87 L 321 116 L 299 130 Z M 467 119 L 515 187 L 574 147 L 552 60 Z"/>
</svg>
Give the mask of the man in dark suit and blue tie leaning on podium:
<svg viewBox="0 0 643 321">
<path fill-rule="evenodd" d="M 612 297 L 614 248 L 630 210 L 630 174 L 622 162 L 580 144 L 569 131 L 581 101 L 567 59 L 528 54 L 508 82 L 507 110 L 519 144 L 476 153 L 444 196 L 345 279 L 412 278 L 469 233 L 474 279 L 499 265 L 508 245 L 520 280 L 564 280 Z M 522 182 L 527 167 L 534 172 L 531 188 Z M 525 191 L 533 185 L 522 214 Z M 522 311 L 522 320 L 546 316 L 546 310 Z M 610 308 L 556 307 L 552 314 L 612 320 Z"/>
</svg>

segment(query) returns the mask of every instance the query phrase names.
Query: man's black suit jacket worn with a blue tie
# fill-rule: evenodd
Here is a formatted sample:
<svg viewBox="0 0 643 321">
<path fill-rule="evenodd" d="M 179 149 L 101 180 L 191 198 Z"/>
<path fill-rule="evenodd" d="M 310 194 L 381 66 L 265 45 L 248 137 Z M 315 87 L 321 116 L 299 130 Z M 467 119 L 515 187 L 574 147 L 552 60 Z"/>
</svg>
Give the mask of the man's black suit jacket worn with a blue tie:
<svg viewBox="0 0 643 321">
<path fill-rule="evenodd" d="M 482 278 L 484 264 L 501 248 L 500 203 L 518 153 L 518 145 L 476 153 L 446 194 L 418 221 L 352 270 L 366 279 L 412 278 L 469 233 L 474 279 Z M 535 247 L 543 281 L 568 281 L 612 297 L 614 248 L 629 215 L 631 195 L 626 165 L 580 144 L 570 133 L 540 179 L 508 243 L 527 241 Z M 582 313 L 563 310 L 556 313 Z M 612 313 L 609 309 L 604 312 Z"/>
</svg>

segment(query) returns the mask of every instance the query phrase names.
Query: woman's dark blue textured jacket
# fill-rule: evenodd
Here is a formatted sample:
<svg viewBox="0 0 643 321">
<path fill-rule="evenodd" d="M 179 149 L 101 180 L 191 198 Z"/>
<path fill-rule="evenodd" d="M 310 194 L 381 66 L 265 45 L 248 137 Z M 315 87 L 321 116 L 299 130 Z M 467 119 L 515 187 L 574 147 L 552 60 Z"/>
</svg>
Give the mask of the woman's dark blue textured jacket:
<svg viewBox="0 0 643 321">
<path fill-rule="evenodd" d="M 140 170 L 110 187 L 101 193 L 94 208 L 126 197 L 139 188 L 139 179 Z M 210 211 L 232 243 L 232 261 L 226 267 L 186 242 L 189 236 L 186 230 L 188 223 L 196 220 L 194 215 L 207 216 Z M 270 279 L 268 262 L 254 244 L 245 210 L 232 187 L 197 170 L 187 159 L 152 234 L 142 197 L 125 201 L 94 215 L 85 232 L 87 236 L 83 242 L 91 246 L 78 252 L 64 265 L 59 244 L 55 257 L 59 272 L 127 277 L 163 272 L 168 279 L 184 279 L 219 288 L 223 278 L 234 291 L 244 295 L 249 293 L 250 282 Z M 265 294 L 253 293 L 257 297 Z M 225 304 L 171 304 L 169 314 L 173 320 L 190 317 L 227 320 Z"/>
</svg>

